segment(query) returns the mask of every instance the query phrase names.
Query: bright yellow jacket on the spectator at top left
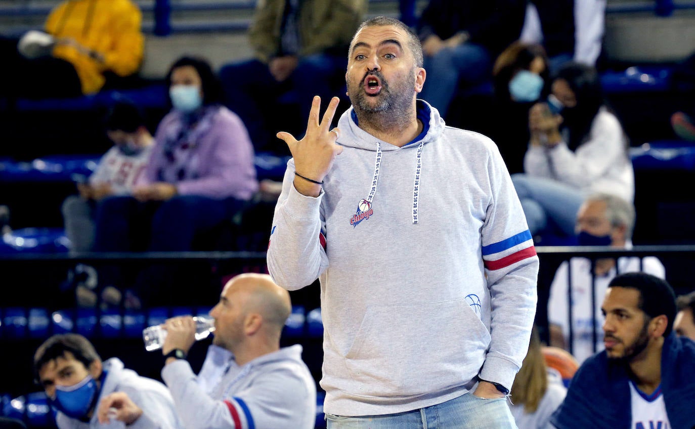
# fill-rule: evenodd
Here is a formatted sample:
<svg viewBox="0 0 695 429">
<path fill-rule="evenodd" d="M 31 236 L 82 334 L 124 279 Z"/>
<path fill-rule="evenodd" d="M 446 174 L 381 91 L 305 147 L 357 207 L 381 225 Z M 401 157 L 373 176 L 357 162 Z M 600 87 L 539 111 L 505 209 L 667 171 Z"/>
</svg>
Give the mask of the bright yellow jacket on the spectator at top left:
<svg viewBox="0 0 695 429">
<path fill-rule="evenodd" d="M 145 45 L 141 22 L 142 13 L 130 0 L 66 0 L 51 10 L 45 30 L 103 57 L 102 62 L 70 44 L 56 44 L 53 51 L 75 67 L 82 92 L 92 94 L 104 86 L 104 72 L 129 76 L 138 71 Z"/>
</svg>

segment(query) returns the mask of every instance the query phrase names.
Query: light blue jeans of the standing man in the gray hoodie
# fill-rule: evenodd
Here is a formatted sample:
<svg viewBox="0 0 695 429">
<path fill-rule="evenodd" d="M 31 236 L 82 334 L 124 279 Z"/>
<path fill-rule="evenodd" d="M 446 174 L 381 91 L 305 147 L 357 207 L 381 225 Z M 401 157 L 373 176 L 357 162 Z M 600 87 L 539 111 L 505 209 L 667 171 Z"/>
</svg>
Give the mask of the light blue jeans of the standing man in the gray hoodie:
<svg viewBox="0 0 695 429">
<path fill-rule="evenodd" d="M 516 429 L 507 398 L 482 399 L 472 393 L 398 414 L 344 417 L 326 414 L 328 429 Z"/>
</svg>

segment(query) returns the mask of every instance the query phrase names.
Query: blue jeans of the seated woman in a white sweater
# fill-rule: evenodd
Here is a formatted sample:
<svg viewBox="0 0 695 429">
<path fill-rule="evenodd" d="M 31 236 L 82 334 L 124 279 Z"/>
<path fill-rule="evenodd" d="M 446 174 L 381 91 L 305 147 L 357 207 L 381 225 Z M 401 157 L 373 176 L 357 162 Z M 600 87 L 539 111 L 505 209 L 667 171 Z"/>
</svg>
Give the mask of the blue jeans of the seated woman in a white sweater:
<svg viewBox="0 0 695 429">
<path fill-rule="evenodd" d="M 541 234 L 553 222 L 567 236 L 573 236 L 577 212 L 584 193 L 553 179 L 512 175 L 531 234 Z"/>
</svg>

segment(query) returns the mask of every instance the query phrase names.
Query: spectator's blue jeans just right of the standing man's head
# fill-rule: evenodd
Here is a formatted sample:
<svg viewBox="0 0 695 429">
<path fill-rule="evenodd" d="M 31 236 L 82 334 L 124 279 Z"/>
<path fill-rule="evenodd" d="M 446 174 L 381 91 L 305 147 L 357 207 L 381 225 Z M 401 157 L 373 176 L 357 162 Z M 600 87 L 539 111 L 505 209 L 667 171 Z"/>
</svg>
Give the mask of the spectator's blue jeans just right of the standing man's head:
<svg viewBox="0 0 695 429">
<path fill-rule="evenodd" d="M 480 44 L 464 43 L 444 48 L 435 56 L 425 57 L 427 79 L 420 98 L 432 104 L 445 118 L 459 82 L 467 86 L 482 83 L 488 78 L 490 67 L 490 54 Z"/>
</svg>

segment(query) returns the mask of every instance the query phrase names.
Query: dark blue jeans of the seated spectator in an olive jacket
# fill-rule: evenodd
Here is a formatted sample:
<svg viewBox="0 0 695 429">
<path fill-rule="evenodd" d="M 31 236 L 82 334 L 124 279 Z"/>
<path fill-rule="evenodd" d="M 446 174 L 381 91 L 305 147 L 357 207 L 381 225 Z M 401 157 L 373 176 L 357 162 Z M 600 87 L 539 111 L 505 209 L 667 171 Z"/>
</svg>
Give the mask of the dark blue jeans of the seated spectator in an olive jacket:
<svg viewBox="0 0 695 429">
<path fill-rule="evenodd" d="M 314 95 L 321 97 L 324 105 L 331 97 L 346 97 L 346 67 L 345 55 L 305 56 L 286 81 L 278 82 L 267 64 L 246 60 L 222 67 L 220 80 L 227 107 L 244 121 L 256 152 L 277 152 L 278 148 L 285 149 L 284 143 L 275 137 L 277 131 L 288 131 L 301 138 L 297 134 L 304 132 L 302 124 L 309 118 Z M 288 106 L 296 106 L 294 113 L 302 119 L 299 123 Z"/>
</svg>

